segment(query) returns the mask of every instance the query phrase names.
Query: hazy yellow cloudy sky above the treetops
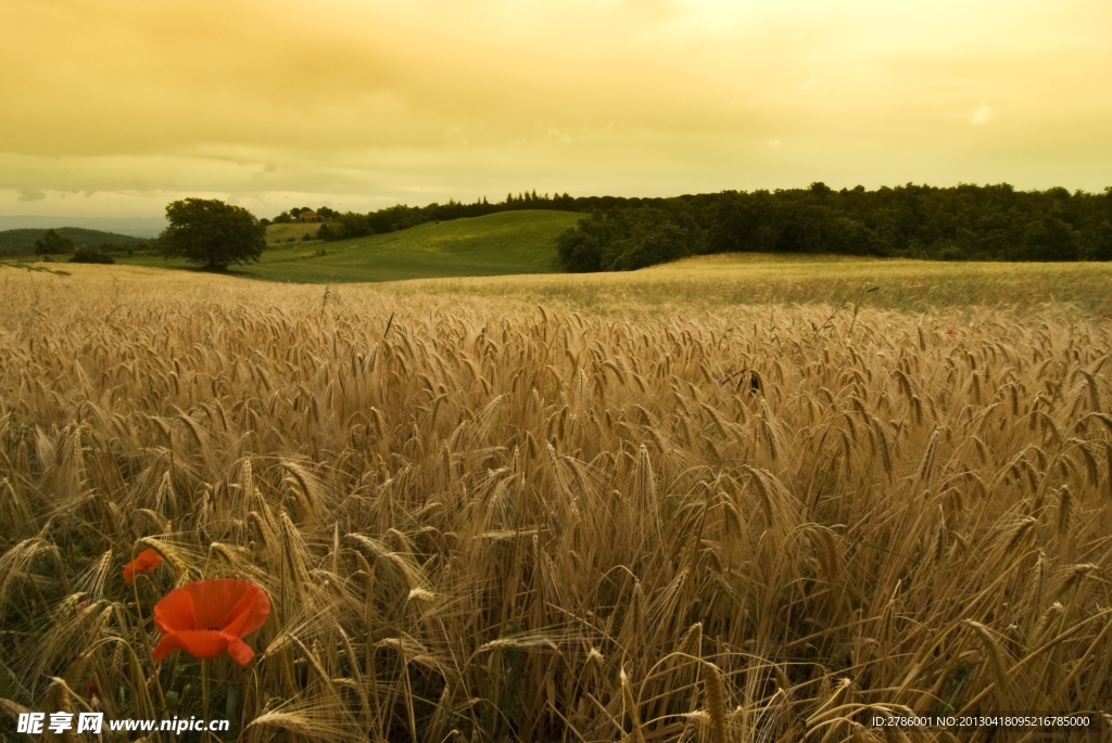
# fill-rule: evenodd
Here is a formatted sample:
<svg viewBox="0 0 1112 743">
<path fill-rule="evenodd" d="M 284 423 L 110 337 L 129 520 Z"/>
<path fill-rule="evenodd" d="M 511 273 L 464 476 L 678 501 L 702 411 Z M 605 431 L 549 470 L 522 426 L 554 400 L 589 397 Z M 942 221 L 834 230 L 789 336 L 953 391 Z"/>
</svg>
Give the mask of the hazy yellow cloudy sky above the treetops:
<svg viewBox="0 0 1112 743">
<path fill-rule="evenodd" d="M 1108 0 L 4 0 L 0 214 L 1112 184 Z"/>
</svg>

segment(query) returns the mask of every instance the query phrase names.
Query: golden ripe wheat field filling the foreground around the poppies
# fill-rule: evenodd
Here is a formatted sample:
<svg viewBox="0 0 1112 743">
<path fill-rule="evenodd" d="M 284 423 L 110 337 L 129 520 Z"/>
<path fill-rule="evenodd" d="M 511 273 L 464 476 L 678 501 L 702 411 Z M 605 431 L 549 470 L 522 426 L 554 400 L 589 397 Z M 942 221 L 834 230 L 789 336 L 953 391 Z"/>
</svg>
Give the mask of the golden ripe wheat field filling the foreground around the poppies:
<svg viewBox="0 0 1112 743">
<path fill-rule="evenodd" d="M 1112 735 L 1112 331 L 1066 305 L 0 279 L 0 737 Z M 255 660 L 156 665 L 153 603 L 226 576 L 270 598 Z"/>
</svg>

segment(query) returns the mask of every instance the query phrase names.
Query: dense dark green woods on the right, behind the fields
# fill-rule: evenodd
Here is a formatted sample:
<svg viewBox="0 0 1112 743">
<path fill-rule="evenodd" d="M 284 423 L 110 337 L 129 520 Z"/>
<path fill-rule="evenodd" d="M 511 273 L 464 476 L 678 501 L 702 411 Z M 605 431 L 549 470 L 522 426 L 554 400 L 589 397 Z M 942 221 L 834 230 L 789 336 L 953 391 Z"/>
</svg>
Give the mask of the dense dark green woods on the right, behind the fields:
<svg viewBox="0 0 1112 743">
<path fill-rule="evenodd" d="M 559 235 L 573 272 L 623 271 L 725 252 L 932 260 L 1112 260 L 1112 187 L 1017 191 L 1007 183 L 835 191 L 724 191 L 626 200 Z"/>
</svg>

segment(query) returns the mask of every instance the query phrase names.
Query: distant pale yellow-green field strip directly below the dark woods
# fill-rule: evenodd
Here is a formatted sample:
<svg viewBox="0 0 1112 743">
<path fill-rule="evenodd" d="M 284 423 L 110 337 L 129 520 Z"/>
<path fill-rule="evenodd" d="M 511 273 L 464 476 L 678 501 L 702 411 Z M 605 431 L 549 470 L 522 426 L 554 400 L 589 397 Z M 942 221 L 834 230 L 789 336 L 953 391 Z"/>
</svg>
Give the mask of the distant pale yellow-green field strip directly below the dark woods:
<svg viewBox="0 0 1112 743">
<path fill-rule="evenodd" d="M 387 291 L 479 292 L 534 303 L 570 302 L 624 314 L 631 303 L 717 313 L 732 304 L 833 304 L 876 287 L 867 305 L 965 317 L 1009 310 L 1036 320 L 1069 305 L 1079 317 L 1112 319 L 1112 263 L 945 263 L 845 255 L 701 255 L 627 273 L 552 274 L 410 282 Z"/>
</svg>

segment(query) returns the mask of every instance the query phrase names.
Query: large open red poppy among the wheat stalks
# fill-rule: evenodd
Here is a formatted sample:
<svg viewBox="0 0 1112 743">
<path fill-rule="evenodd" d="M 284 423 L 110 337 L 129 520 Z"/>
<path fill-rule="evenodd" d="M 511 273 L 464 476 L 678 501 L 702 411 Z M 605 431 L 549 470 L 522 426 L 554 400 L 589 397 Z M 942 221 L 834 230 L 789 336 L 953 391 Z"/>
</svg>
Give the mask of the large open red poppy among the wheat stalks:
<svg viewBox="0 0 1112 743">
<path fill-rule="evenodd" d="M 244 635 L 262 626 L 269 614 L 270 600 L 250 581 L 226 578 L 182 585 L 155 604 L 155 624 L 163 635 L 155 660 L 175 650 L 202 661 L 227 651 L 242 665 L 255 657 Z"/>
</svg>

